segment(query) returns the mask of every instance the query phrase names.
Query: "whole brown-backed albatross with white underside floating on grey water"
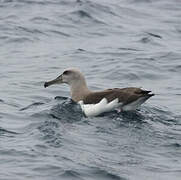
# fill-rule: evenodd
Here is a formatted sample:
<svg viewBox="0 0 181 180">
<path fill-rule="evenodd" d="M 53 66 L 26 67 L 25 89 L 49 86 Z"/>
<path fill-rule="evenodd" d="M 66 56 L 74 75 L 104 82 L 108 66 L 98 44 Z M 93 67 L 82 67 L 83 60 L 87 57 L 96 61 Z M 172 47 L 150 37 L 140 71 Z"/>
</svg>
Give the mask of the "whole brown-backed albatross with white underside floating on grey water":
<svg viewBox="0 0 181 180">
<path fill-rule="evenodd" d="M 97 116 L 114 109 L 119 112 L 136 110 L 154 96 L 151 91 L 137 87 L 91 91 L 87 87 L 84 75 L 74 68 L 67 69 L 56 79 L 45 82 L 44 87 L 62 83 L 70 86 L 71 99 L 80 104 L 86 116 Z"/>
</svg>

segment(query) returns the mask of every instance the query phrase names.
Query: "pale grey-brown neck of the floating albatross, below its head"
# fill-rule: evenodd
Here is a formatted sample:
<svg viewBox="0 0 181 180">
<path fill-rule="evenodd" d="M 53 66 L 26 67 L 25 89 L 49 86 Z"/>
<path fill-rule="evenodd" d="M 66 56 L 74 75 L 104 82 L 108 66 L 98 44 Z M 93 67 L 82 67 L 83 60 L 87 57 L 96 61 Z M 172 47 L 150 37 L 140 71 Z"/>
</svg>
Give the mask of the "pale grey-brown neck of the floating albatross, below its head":
<svg viewBox="0 0 181 180">
<path fill-rule="evenodd" d="M 71 98 L 75 102 L 79 102 L 84 99 L 91 91 L 88 89 L 85 80 L 76 81 L 70 85 Z"/>
</svg>

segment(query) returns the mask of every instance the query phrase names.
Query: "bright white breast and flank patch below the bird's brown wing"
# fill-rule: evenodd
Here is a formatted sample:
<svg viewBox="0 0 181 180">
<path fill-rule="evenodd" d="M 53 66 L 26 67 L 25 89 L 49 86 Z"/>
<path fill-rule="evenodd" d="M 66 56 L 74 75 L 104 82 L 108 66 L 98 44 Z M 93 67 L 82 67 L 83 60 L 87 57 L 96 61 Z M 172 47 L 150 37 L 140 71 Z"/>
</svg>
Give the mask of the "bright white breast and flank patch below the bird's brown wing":
<svg viewBox="0 0 181 180">
<path fill-rule="evenodd" d="M 86 116 L 97 116 L 104 112 L 109 112 L 121 106 L 122 103 L 118 102 L 118 98 L 114 99 L 113 101 L 109 102 L 106 98 L 103 98 L 97 104 L 84 104 L 83 101 L 78 102 L 82 108 L 82 111 L 85 113 Z"/>
</svg>

